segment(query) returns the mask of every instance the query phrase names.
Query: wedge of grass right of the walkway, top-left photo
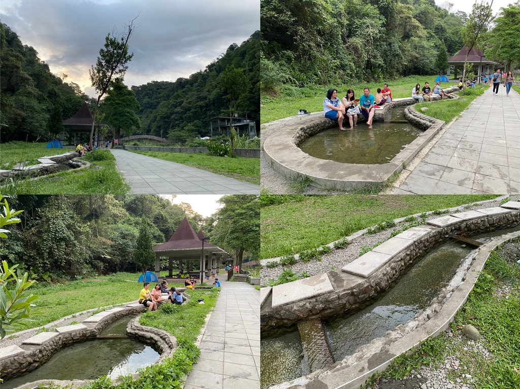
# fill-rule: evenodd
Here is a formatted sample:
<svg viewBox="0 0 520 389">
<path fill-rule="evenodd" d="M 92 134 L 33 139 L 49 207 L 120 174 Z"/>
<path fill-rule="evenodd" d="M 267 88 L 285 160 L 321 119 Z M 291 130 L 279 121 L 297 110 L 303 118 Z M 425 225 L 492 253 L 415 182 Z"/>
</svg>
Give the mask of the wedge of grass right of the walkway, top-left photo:
<svg viewBox="0 0 520 389">
<path fill-rule="evenodd" d="M 211 171 L 222 176 L 260 184 L 260 160 L 256 158 L 227 158 L 207 154 L 170 153 L 166 151 L 133 151 L 133 153 L 168 160 Z"/>
</svg>

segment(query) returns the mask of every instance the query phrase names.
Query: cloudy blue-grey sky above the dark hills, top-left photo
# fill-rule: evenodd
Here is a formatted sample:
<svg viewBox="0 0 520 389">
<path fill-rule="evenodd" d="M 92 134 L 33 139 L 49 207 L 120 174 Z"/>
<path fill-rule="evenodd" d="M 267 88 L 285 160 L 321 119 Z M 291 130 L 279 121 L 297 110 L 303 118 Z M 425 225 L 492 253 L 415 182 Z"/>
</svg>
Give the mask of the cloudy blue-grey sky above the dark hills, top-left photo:
<svg viewBox="0 0 520 389">
<path fill-rule="evenodd" d="M 24 45 L 33 46 L 54 74 L 69 75 L 94 97 L 88 70 L 105 36 L 138 28 L 130 41 L 134 58 L 128 86 L 175 81 L 204 70 L 233 43 L 260 28 L 259 0 L 2 0 L 0 18 Z"/>
</svg>

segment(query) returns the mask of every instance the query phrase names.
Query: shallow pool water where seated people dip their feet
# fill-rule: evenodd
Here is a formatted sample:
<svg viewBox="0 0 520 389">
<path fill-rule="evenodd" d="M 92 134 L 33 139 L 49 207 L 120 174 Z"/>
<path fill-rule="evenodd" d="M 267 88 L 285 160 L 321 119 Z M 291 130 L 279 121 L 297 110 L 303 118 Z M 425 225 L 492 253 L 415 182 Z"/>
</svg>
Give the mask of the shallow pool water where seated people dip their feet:
<svg viewBox="0 0 520 389">
<path fill-rule="evenodd" d="M 353 130 L 339 127 L 321 131 L 303 141 L 300 149 L 310 156 L 347 164 L 386 164 L 423 131 L 408 123 L 404 108 L 391 110 L 384 122 L 368 128 L 359 123 Z M 343 121 L 348 128 L 348 119 Z"/>
</svg>

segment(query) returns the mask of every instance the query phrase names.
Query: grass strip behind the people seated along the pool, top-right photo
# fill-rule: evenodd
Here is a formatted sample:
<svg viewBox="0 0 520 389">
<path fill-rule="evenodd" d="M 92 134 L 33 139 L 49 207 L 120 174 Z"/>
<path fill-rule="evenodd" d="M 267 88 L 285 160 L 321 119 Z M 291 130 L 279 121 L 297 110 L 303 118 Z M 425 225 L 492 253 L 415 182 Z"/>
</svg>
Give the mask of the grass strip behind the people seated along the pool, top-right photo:
<svg viewBox="0 0 520 389">
<path fill-rule="evenodd" d="M 421 87 L 425 82 L 430 86 L 435 86 L 436 75 L 432 76 L 409 76 L 398 80 L 388 80 L 388 87 L 392 90 L 392 98 L 411 97 L 411 90 L 415 84 L 420 83 Z M 298 110 L 305 109 L 309 112 L 323 111 L 323 99 L 327 96 L 329 88 L 336 88 L 337 97 L 340 99 L 346 95 L 348 89 L 354 89 L 356 98 L 363 94 L 363 88 L 369 87 L 370 93 L 375 95 L 378 88 L 383 88 L 385 81 L 378 83 L 358 84 L 358 85 L 329 85 L 324 87 L 310 86 L 304 88 L 283 88 L 284 95 L 277 98 L 262 97 L 261 102 L 261 123 L 269 123 L 284 117 L 293 116 Z M 455 83 L 442 83 L 441 87 L 449 88 Z M 434 104 L 432 104 L 434 105 Z"/>
</svg>

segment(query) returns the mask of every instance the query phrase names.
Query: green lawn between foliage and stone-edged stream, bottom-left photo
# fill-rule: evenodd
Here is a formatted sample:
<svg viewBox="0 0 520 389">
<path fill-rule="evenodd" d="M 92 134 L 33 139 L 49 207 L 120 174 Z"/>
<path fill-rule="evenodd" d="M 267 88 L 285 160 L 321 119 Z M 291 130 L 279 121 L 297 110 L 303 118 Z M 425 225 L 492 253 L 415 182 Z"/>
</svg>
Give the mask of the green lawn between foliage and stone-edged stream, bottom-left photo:
<svg viewBox="0 0 520 389">
<path fill-rule="evenodd" d="M 29 289 L 38 298 L 31 311 L 27 328 L 40 327 L 77 312 L 122 304 L 139 298 L 142 284 L 139 273 L 117 273 L 110 276 L 67 281 L 63 285 L 38 283 Z M 173 284 L 184 288 L 184 283 Z"/>
</svg>

